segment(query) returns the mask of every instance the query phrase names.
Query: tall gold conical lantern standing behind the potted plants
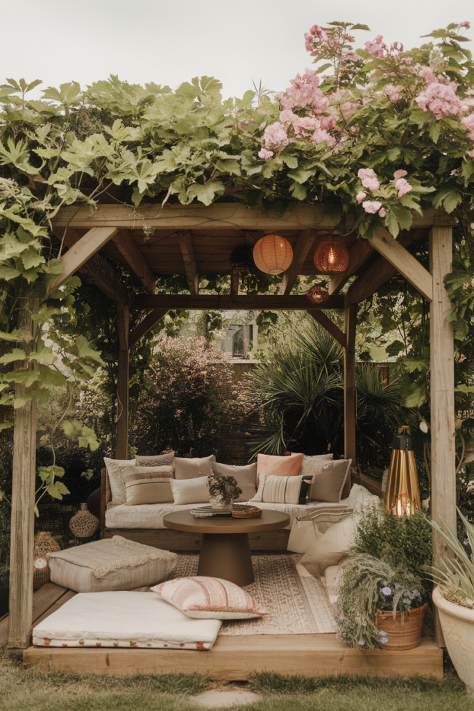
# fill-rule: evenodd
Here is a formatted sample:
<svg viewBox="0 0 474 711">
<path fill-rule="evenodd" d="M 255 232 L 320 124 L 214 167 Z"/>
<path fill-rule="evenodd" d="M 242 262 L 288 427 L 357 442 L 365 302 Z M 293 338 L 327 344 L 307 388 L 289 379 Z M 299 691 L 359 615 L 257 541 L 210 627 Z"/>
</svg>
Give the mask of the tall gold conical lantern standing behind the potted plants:
<svg viewBox="0 0 474 711">
<path fill-rule="evenodd" d="M 399 427 L 387 477 L 385 508 L 396 516 L 410 515 L 421 509 L 413 439 L 409 434 L 409 427 Z"/>
</svg>

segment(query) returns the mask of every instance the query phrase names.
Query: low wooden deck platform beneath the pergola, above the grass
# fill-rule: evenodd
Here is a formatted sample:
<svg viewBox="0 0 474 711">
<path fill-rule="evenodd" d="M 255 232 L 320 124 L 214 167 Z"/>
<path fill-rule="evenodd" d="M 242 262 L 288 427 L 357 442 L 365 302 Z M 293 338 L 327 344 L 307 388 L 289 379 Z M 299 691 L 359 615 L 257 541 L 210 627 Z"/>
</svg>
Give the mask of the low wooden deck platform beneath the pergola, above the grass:
<svg viewBox="0 0 474 711">
<path fill-rule="evenodd" d="M 58 609 L 75 592 L 52 583 L 33 596 L 33 626 Z M 0 643 L 8 619 L 0 621 Z M 28 647 L 27 669 L 108 674 L 167 674 L 186 670 L 216 680 L 247 680 L 252 671 L 283 675 L 443 676 L 443 650 L 424 637 L 416 649 L 401 652 L 350 649 L 335 634 L 218 636 L 210 651 L 173 649 Z"/>
</svg>

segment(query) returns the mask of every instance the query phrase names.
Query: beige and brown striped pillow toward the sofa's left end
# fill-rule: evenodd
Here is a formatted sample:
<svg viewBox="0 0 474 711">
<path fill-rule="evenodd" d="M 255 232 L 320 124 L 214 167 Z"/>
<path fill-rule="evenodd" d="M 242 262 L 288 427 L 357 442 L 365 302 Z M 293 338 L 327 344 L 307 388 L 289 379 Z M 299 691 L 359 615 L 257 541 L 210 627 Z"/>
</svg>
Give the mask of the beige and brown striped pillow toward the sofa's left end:
<svg viewBox="0 0 474 711">
<path fill-rule="evenodd" d="M 128 506 L 141 503 L 173 503 L 172 466 L 126 466 L 124 484 Z"/>
</svg>

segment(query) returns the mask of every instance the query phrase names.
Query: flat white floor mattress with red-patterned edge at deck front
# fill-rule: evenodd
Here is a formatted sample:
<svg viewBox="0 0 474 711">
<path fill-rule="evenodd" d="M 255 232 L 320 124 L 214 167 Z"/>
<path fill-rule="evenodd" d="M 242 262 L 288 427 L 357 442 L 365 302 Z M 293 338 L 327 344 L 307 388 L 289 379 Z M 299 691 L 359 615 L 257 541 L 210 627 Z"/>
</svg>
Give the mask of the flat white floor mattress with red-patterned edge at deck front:
<svg viewBox="0 0 474 711">
<path fill-rule="evenodd" d="M 33 629 L 33 644 L 207 650 L 221 624 L 192 619 L 154 592 L 80 593 Z"/>
</svg>

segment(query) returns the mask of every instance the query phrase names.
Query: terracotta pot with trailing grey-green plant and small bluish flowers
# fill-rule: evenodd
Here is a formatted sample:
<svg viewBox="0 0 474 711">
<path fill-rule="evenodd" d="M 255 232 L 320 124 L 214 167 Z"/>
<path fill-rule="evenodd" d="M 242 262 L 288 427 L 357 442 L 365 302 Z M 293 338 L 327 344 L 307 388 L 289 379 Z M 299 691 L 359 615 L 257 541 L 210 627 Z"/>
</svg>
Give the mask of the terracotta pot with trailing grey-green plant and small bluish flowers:
<svg viewBox="0 0 474 711">
<path fill-rule="evenodd" d="M 361 649 L 413 649 L 427 603 L 421 578 L 367 553 L 341 565 L 338 636 Z"/>
</svg>

